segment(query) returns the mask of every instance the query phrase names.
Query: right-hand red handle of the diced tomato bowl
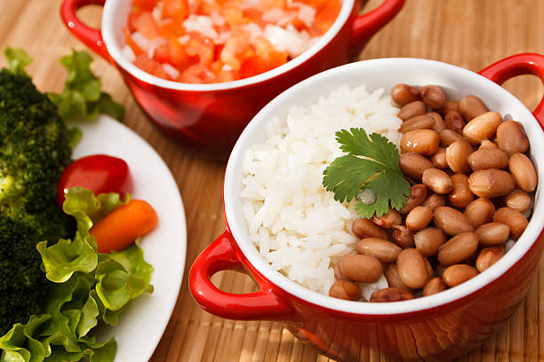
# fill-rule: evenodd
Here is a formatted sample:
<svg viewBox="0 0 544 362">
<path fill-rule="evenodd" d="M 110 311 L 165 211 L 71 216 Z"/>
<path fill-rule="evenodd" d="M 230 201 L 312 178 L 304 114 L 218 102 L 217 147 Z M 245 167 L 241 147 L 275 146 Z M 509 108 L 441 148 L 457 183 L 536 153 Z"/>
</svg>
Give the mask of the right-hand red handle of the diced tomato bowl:
<svg viewBox="0 0 544 362">
<path fill-rule="evenodd" d="M 349 39 L 349 55 L 356 59 L 364 45 L 383 28 L 389 21 L 395 18 L 401 11 L 404 0 L 384 0 L 380 6 L 365 14 L 357 15 L 353 20 Z"/>
</svg>

